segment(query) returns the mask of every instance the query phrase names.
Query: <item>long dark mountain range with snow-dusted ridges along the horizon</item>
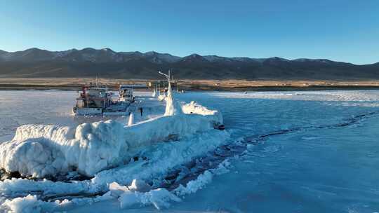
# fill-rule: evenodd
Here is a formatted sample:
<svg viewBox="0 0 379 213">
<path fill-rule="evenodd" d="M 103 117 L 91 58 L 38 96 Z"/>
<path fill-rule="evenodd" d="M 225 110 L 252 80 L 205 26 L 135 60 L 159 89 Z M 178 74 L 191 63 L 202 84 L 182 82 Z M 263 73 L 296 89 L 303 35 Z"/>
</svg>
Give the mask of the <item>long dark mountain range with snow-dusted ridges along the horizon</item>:
<svg viewBox="0 0 379 213">
<path fill-rule="evenodd" d="M 379 79 L 379 63 L 356 65 L 325 59 L 286 60 L 188 55 L 156 52 L 96 50 L 48 51 L 31 48 L 8 53 L 0 50 L 0 77 L 157 78 L 158 70 L 173 70 L 186 79 L 357 80 Z"/>
</svg>

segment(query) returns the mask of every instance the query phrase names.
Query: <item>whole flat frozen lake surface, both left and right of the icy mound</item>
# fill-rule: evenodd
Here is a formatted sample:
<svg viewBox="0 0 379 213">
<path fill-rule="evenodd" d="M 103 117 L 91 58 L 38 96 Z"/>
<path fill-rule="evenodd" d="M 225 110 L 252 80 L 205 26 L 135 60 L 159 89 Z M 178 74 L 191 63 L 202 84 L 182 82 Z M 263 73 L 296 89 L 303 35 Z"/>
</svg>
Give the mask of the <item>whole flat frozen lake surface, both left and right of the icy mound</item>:
<svg viewBox="0 0 379 213">
<path fill-rule="evenodd" d="M 75 97 L 72 91 L 0 91 L 0 142 L 27 123 L 92 121 L 71 115 Z M 175 98 L 219 109 L 230 147 L 243 142 L 244 148 L 225 157 L 228 172 L 163 212 L 379 212 L 378 90 L 187 92 Z M 151 205 L 120 209 L 116 199 L 64 210 L 91 209 L 155 212 Z"/>
</svg>

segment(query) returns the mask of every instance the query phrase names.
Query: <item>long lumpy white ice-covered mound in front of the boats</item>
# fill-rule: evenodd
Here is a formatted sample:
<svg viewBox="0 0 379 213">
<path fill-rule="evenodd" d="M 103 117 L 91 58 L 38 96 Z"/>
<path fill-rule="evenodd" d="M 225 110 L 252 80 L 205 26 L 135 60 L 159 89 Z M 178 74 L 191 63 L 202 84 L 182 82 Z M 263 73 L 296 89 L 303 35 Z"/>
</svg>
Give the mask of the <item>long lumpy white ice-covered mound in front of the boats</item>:
<svg viewBox="0 0 379 213">
<path fill-rule="evenodd" d="M 191 102 L 171 114 L 124 125 L 116 121 L 83 123 L 77 128 L 22 125 L 15 137 L 0 144 L 0 167 L 22 176 L 46 177 L 77 170 L 86 176 L 126 163 L 133 149 L 155 142 L 180 139 L 222 124 L 218 111 Z M 182 111 L 177 113 L 178 111 Z"/>
</svg>

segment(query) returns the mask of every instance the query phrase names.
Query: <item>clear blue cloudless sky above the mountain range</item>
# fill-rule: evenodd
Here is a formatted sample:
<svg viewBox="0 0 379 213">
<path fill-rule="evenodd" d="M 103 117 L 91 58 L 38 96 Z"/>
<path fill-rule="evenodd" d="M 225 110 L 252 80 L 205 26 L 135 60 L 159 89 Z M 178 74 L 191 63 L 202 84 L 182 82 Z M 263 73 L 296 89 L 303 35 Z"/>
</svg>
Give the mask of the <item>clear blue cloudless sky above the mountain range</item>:
<svg viewBox="0 0 379 213">
<path fill-rule="evenodd" d="M 1 1 L 0 49 L 379 62 L 379 1 Z"/>
</svg>

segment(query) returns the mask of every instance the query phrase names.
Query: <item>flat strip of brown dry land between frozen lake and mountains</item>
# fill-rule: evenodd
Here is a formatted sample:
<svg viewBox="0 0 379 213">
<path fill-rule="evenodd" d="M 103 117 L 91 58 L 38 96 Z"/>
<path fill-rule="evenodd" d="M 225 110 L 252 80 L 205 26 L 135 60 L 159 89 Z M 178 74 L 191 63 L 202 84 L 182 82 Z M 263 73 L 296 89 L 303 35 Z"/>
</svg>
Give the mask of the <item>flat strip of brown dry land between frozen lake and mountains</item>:
<svg viewBox="0 0 379 213">
<path fill-rule="evenodd" d="M 95 78 L 0 78 L 0 90 L 79 90 L 85 82 Z M 146 84 L 143 79 L 100 79 L 111 88 L 121 83 Z M 377 90 L 379 81 L 370 80 L 217 80 L 182 79 L 180 88 L 185 91 L 290 91 L 290 90 Z"/>
</svg>

